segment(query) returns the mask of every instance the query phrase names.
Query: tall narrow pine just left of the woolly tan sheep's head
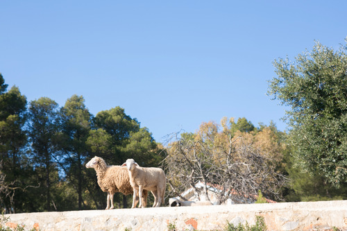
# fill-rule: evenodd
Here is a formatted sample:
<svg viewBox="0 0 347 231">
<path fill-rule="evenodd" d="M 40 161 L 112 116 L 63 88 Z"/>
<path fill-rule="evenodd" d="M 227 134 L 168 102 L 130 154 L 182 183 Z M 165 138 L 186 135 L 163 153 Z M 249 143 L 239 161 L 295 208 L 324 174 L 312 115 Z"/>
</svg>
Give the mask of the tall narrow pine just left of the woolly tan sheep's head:
<svg viewBox="0 0 347 231">
<path fill-rule="evenodd" d="M 85 107 L 83 96 L 71 96 L 60 110 L 61 133 L 57 143 L 62 155 L 58 162 L 78 194 L 78 209 L 82 209 L 84 176 L 83 164 L 88 156 L 87 138 L 90 135 L 92 114 Z"/>
</svg>

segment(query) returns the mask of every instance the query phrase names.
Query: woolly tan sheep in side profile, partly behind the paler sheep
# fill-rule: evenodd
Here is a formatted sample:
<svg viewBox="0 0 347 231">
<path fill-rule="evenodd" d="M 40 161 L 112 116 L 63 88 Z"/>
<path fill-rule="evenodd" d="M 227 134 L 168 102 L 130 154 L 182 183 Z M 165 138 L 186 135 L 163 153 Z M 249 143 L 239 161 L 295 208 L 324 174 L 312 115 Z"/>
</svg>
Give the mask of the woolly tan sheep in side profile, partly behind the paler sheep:
<svg viewBox="0 0 347 231">
<path fill-rule="evenodd" d="M 102 191 L 108 193 L 106 209 L 114 208 L 113 195 L 116 192 L 121 192 L 124 195 L 133 194 L 133 187 L 130 185 L 129 174 L 126 168 L 117 165 L 108 166 L 103 158 L 97 156 L 93 157 L 85 166 L 95 169 L 99 187 Z M 144 207 L 146 207 L 148 191 L 144 190 L 142 196 Z M 136 196 L 135 205 L 137 202 L 138 197 Z"/>
</svg>

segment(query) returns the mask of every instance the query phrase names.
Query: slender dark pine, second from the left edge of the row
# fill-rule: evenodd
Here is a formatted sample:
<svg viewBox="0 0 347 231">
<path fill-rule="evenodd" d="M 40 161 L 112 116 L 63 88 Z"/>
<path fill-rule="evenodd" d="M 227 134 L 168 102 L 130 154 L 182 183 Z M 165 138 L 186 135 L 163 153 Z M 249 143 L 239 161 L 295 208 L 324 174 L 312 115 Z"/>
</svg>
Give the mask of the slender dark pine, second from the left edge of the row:
<svg viewBox="0 0 347 231">
<path fill-rule="evenodd" d="M 56 152 L 55 139 L 60 127 L 58 103 L 46 97 L 31 101 L 28 114 L 28 134 L 33 148 L 33 159 L 37 165 L 37 173 L 44 180 L 46 210 L 51 211 L 52 174 L 57 172 L 53 155 Z"/>
</svg>

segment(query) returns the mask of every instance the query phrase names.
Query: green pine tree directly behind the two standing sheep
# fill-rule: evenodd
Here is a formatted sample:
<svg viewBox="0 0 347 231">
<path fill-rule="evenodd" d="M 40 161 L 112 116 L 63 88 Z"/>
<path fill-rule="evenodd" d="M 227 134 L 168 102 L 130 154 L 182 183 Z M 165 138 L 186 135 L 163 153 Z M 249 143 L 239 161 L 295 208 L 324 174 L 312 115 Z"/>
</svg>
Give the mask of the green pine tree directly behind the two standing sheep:
<svg viewBox="0 0 347 231">
<path fill-rule="evenodd" d="M 131 157 L 142 166 L 158 166 L 163 158 L 151 132 L 147 128 L 141 128 L 137 119 L 132 119 L 120 107 L 96 114 L 94 129 L 90 131 L 87 144 L 90 146 L 91 155 L 95 153 L 103 157 L 108 164 L 120 165 Z M 94 184 L 88 185 L 88 190 L 98 207 L 98 195 L 94 194 L 99 193 L 100 189 L 95 173 L 87 171 L 87 174 L 94 179 Z M 115 200 L 119 202 L 118 195 Z M 104 202 L 104 198 L 101 202 Z M 127 198 L 123 196 L 123 207 L 127 206 Z"/>
</svg>

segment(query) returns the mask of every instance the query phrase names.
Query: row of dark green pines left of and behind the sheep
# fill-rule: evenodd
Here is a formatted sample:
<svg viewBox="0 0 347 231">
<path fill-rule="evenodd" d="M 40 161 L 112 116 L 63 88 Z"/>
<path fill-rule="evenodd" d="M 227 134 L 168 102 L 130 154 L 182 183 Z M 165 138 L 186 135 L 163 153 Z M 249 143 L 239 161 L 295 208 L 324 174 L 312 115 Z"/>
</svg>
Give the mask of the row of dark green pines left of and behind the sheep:
<svg viewBox="0 0 347 231">
<path fill-rule="evenodd" d="M 7 87 L 0 75 L 1 212 L 104 209 L 105 194 L 87 160 L 99 155 L 122 164 L 133 157 L 158 166 L 164 157 L 151 132 L 123 108 L 94 116 L 83 96 L 60 108 L 46 97 L 27 102 L 18 87 Z M 129 198 L 121 196 L 118 207 L 127 207 Z"/>
</svg>

